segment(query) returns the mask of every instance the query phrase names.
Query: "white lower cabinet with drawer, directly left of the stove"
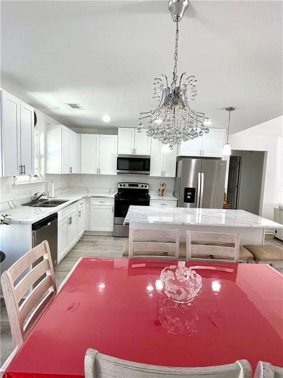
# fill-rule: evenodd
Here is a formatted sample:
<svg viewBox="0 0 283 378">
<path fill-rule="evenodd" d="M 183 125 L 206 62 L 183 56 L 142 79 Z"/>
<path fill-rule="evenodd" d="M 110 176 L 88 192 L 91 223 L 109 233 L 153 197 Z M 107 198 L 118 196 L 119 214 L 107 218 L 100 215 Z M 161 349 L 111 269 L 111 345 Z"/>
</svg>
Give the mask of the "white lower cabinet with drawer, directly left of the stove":
<svg viewBox="0 0 283 378">
<path fill-rule="evenodd" d="M 114 200 L 112 198 L 91 198 L 90 231 L 113 232 Z"/>
</svg>

